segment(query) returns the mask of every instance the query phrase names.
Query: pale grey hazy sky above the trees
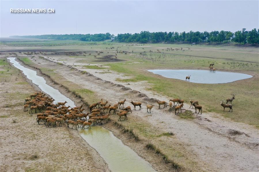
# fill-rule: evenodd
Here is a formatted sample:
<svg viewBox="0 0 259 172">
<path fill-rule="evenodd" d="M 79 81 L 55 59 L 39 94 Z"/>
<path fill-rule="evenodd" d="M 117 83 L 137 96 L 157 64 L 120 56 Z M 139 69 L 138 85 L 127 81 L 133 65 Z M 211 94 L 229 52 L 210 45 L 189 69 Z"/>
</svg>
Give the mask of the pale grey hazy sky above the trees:
<svg viewBox="0 0 259 172">
<path fill-rule="evenodd" d="M 258 28 L 258 1 L 0 1 L 0 36 Z M 54 8 L 55 13 L 10 13 Z M 77 26 L 77 27 L 76 27 Z"/>
</svg>

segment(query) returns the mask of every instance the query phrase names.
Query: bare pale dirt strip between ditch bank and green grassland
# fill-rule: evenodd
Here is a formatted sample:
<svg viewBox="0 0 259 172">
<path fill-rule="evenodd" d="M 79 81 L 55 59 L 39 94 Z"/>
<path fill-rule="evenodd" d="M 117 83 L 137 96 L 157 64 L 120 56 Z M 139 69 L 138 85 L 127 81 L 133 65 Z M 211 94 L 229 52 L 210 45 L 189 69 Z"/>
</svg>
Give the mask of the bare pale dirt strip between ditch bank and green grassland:
<svg viewBox="0 0 259 172">
<path fill-rule="evenodd" d="M 168 97 L 154 96 L 148 91 L 140 93 L 136 91 L 138 89 L 133 90 L 134 86 L 130 85 L 132 88 L 128 88 L 114 84 L 92 74 L 83 74 L 71 66 L 57 65 L 47 59 L 37 58 L 37 63 L 39 67 L 55 69 L 55 72 L 65 76 L 66 80 L 94 91 L 98 97 L 111 103 L 124 98 L 128 100 L 125 106 L 131 105 L 129 99 L 143 102 L 144 109 L 133 111 L 131 117 L 148 123 L 154 130 L 173 130 L 175 137 L 167 138 L 167 143 L 175 143 L 178 139 L 181 142 L 179 146 L 185 148 L 184 153 L 198 161 L 201 169 L 205 171 L 258 171 L 258 130 L 252 126 L 213 118 L 213 115 L 217 115 L 213 113 L 197 115 L 194 120 L 182 120 L 168 109 L 154 108 L 152 115 L 148 115 L 145 112 L 146 104 L 155 104 L 156 99 L 167 100 Z M 184 109 L 188 108 L 186 104 Z"/>
</svg>

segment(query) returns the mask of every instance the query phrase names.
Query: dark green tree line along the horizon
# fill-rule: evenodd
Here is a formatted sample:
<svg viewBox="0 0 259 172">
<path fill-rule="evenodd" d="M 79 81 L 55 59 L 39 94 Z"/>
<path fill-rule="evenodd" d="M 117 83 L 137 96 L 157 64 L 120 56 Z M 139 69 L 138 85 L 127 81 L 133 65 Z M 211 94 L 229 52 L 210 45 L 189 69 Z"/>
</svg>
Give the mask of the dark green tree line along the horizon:
<svg viewBox="0 0 259 172">
<path fill-rule="evenodd" d="M 212 32 L 149 32 L 141 31 L 140 33 L 124 33 L 117 36 L 110 33 L 105 34 L 63 34 L 63 35 L 36 35 L 36 36 L 12 36 L 23 38 L 39 38 L 39 39 L 54 39 L 54 40 L 82 40 L 82 41 L 104 41 L 114 38 L 117 42 L 139 42 L 139 43 L 158 43 L 158 42 L 213 42 L 225 43 L 233 41 L 239 44 L 259 44 L 259 29 L 247 31 L 245 28 L 238 30 L 235 33 L 230 31 L 212 31 Z"/>
</svg>

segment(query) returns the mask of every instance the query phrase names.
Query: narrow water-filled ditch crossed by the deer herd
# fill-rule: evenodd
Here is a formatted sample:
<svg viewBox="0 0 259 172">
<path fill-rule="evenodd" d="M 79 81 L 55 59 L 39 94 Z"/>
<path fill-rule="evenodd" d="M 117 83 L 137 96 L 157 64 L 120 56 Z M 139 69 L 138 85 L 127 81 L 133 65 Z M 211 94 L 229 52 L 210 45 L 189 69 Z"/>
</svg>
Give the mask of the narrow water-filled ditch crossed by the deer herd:
<svg viewBox="0 0 259 172">
<path fill-rule="evenodd" d="M 46 80 L 41 76 L 37 76 L 36 71 L 23 67 L 14 57 L 9 57 L 8 59 L 28 79 L 39 86 L 43 92 L 53 97 L 56 102 L 67 101 L 66 105 L 75 107 L 71 99 L 46 84 Z M 124 145 L 109 130 L 101 126 L 91 126 L 89 129 L 79 129 L 79 131 L 82 138 L 99 152 L 109 165 L 111 171 L 155 171 L 147 161 L 138 156 L 131 148 Z"/>
</svg>

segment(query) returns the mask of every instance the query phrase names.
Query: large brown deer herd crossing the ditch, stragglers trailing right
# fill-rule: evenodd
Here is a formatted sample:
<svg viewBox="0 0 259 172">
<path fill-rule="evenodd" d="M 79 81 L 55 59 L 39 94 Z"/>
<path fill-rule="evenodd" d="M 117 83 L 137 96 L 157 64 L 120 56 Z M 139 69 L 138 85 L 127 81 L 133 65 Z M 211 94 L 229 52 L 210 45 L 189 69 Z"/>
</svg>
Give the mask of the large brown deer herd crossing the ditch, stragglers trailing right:
<svg viewBox="0 0 259 172">
<path fill-rule="evenodd" d="M 82 105 L 72 108 L 70 106 L 66 106 L 67 101 L 54 104 L 53 101 L 55 100 L 53 98 L 49 98 L 46 94 L 42 92 L 36 92 L 34 94 L 31 94 L 29 97 L 30 98 L 25 98 L 24 111 L 28 111 L 28 108 L 30 108 L 29 113 L 33 114 L 33 111 L 37 113 L 38 110 L 39 113 L 37 113 L 36 121 L 38 124 L 40 124 L 40 122 L 43 122 L 46 127 L 48 127 L 49 125 L 52 125 L 54 127 L 57 125 L 57 123 L 59 124 L 59 126 L 62 126 L 62 124 L 65 124 L 66 122 L 67 127 L 69 127 L 69 125 L 72 125 L 72 129 L 73 127 L 75 127 L 77 130 L 77 127 L 82 127 L 83 129 L 85 128 L 85 126 L 91 127 L 91 125 L 95 125 L 98 123 L 103 124 L 103 121 L 106 121 L 107 123 L 109 121 L 111 111 L 113 111 L 113 114 L 119 116 L 118 121 L 121 120 L 121 117 L 124 117 L 124 120 L 128 120 L 128 112 L 132 113 L 131 106 L 124 107 L 126 99 L 124 99 L 123 101 L 118 101 L 118 103 L 114 104 L 113 106 L 107 105 L 108 101 L 103 102 L 103 99 L 101 99 L 97 103 L 88 106 L 90 112 L 83 113 L 85 109 L 82 109 Z M 193 108 L 194 106 L 195 113 L 197 113 L 197 110 L 199 110 L 198 114 L 200 112 L 202 114 L 202 106 L 199 105 L 198 101 L 195 98 L 189 99 L 191 104 L 189 108 L 191 108 L 191 106 Z M 234 99 L 235 94 L 232 95 L 232 98 L 226 99 L 226 104 L 223 103 L 224 101 L 222 100 L 220 102 L 220 105 L 224 108 L 224 110 L 225 108 L 230 108 L 230 110 L 232 110 L 232 104 L 227 103 L 232 103 Z M 139 106 L 139 111 L 141 110 L 141 102 L 133 102 L 131 100 L 130 103 L 134 106 L 134 110 L 136 110 L 136 106 Z M 164 105 L 163 108 L 167 107 L 166 101 L 157 100 L 156 103 L 158 104 L 158 109 L 160 109 L 160 105 Z M 177 111 L 177 113 L 179 113 L 179 111 L 182 112 L 183 106 L 183 99 L 175 98 L 169 100 L 169 110 L 174 107 L 175 115 Z M 146 107 L 147 113 L 151 113 L 151 109 L 154 107 L 154 105 L 146 105 Z M 107 114 L 105 114 L 105 110 Z"/>
</svg>

